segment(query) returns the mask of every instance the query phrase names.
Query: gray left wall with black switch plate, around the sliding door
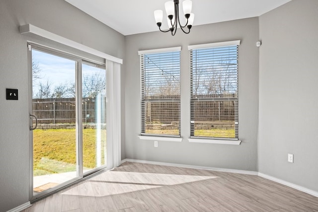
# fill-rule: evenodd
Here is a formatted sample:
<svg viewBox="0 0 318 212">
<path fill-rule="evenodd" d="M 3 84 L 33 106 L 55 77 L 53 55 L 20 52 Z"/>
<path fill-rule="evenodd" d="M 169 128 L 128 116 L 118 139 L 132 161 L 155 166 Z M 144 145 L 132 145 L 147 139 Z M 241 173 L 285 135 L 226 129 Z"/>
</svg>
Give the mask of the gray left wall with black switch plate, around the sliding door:
<svg viewBox="0 0 318 212">
<path fill-rule="evenodd" d="M 29 201 L 27 40 L 101 60 L 21 35 L 19 26 L 27 23 L 124 58 L 123 35 L 64 0 L 0 0 L 0 111 L 5 111 L 0 117 L 0 212 Z M 5 88 L 18 89 L 19 100 L 6 100 Z"/>
</svg>

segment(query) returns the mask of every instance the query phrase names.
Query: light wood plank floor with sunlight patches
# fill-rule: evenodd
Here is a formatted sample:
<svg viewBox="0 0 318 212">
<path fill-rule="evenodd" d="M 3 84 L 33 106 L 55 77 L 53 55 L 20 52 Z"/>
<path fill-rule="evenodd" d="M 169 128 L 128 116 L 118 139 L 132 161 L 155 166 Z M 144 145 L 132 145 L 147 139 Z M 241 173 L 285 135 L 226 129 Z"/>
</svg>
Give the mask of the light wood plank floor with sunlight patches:
<svg viewBox="0 0 318 212">
<path fill-rule="evenodd" d="M 23 212 L 318 212 L 318 198 L 244 174 L 123 163 Z"/>
</svg>

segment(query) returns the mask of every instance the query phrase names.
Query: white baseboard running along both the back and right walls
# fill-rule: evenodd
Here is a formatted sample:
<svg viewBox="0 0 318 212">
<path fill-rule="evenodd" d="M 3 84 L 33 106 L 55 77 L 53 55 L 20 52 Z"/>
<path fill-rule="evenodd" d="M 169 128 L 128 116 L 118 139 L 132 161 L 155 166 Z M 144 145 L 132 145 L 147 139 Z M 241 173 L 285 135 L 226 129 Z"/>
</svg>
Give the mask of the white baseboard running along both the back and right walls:
<svg viewBox="0 0 318 212">
<path fill-rule="evenodd" d="M 192 168 L 192 169 L 203 169 L 203 170 L 209 170 L 209 171 L 221 171 L 221 172 L 230 172 L 230 173 L 237 173 L 237 174 L 248 174 L 248 175 L 257 175 L 263 178 L 266 178 L 268 180 L 283 184 L 285 186 L 294 188 L 296 190 L 305 192 L 307 194 L 313 195 L 315 197 L 318 197 L 318 192 L 314 190 L 307 189 L 305 187 L 257 172 L 257 171 L 245 171 L 245 170 L 238 170 L 238 169 L 224 169 L 224 168 L 213 168 L 213 167 L 206 167 L 206 166 L 194 166 L 194 165 L 184 165 L 184 164 L 177 164 L 177 163 L 164 163 L 164 162 L 156 162 L 156 161 L 147 161 L 147 160 L 135 160 L 135 159 L 124 159 L 121 161 L 121 163 L 124 162 L 134 162 L 134 163 L 147 163 L 147 164 L 154 164 L 154 165 L 162 165 L 162 166 L 175 166 L 175 167 L 181 167 L 181 168 Z"/>
</svg>

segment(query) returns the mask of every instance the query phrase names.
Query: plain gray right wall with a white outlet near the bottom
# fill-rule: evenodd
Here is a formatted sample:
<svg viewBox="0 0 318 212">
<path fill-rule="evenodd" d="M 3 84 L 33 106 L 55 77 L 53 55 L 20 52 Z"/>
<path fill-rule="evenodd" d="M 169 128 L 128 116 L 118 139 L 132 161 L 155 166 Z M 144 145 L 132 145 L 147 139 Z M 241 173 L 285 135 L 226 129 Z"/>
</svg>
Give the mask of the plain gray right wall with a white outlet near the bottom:
<svg viewBox="0 0 318 212">
<path fill-rule="evenodd" d="M 259 26 L 259 172 L 318 191 L 318 1 L 292 0 Z"/>
</svg>

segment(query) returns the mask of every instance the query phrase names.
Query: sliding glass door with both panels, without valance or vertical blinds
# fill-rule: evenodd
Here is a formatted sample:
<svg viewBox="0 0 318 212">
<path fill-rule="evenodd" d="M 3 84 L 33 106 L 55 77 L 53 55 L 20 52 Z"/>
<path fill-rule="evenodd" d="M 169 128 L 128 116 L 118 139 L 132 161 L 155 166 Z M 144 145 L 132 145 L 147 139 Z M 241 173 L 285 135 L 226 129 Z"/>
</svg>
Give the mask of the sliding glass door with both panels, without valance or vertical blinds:
<svg viewBox="0 0 318 212">
<path fill-rule="evenodd" d="M 106 166 L 106 70 L 35 45 L 29 52 L 30 184 L 37 198 Z"/>
</svg>

